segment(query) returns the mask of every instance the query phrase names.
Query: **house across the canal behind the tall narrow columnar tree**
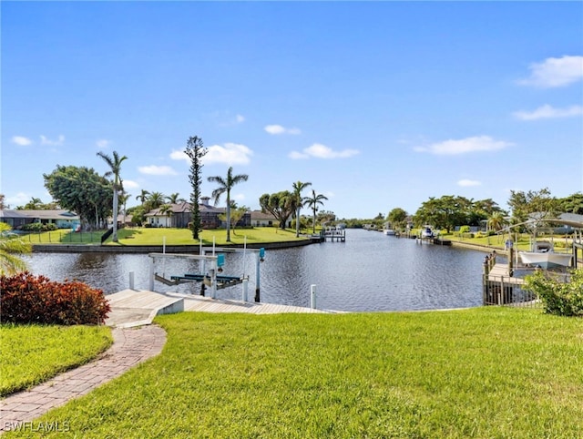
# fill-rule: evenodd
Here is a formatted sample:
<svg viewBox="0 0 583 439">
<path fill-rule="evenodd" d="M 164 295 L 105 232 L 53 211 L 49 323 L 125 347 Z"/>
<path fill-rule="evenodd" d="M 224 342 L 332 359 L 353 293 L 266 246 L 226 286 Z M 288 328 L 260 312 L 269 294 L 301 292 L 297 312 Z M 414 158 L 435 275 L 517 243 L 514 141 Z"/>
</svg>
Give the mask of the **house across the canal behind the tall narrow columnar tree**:
<svg viewBox="0 0 583 439">
<path fill-rule="evenodd" d="M 202 229 L 220 229 L 226 227 L 225 221 L 220 216 L 225 213 L 225 208 L 216 208 L 209 204 L 209 197 L 201 197 L 199 203 L 200 225 Z M 174 227 L 186 229 L 192 221 L 190 203 L 170 204 L 169 211 L 165 209 L 153 209 L 146 214 L 150 227 Z M 245 213 L 237 222 L 237 227 L 250 227 L 251 214 Z"/>
</svg>

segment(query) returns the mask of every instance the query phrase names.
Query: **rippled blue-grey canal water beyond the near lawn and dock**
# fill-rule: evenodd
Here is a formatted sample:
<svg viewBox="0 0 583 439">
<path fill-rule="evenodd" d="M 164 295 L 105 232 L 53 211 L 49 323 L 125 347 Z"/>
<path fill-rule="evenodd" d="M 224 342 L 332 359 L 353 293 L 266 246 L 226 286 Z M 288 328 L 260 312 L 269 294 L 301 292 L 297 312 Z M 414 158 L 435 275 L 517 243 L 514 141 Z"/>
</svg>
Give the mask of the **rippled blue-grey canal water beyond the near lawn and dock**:
<svg viewBox="0 0 583 439">
<path fill-rule="evenodd" d="M 249 275 L 249 298 L 255 293 L 255 254 L 227 253 L 224 275 Z M 338 311 L 413 311 L 464 308 L 482 304 L 484 253 L 385 236 L 377 231 L 346 230 L 345 242 L 326 242 L 267 250 L 260 264 L 261 301 L 310 306 L 316 285 L 317 307 Z M 29 271 L 53 281 L 87 282 L 106 294 L 128 288 L 148 289 L 148 255 L 111 253 L 33 253 Z M 166 278 L 199 272 L 196 260 L 157 260 L 155 271 Z M 156 291 L 198 294 L 199 283 Z M 217 292 L 218 298 L 240 300 L 241 285 Z"/>
</svg>

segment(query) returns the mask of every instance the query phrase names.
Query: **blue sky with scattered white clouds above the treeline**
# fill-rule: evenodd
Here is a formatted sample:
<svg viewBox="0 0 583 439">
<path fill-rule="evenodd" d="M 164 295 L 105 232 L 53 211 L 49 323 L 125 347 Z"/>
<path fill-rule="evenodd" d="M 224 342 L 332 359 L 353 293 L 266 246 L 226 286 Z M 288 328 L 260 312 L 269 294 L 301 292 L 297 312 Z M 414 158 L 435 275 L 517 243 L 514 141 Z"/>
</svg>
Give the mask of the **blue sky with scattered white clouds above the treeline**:
<svg viewBox="0 0 583 439">
<path fill-rule="evenodd" d="M 583 191 L 581 2 L 6 2 L 0 192 L 45 202 L 56 165 L 189 199 L 310 181 L 339 218 L 430 197 Z M 304 195 L 309 195 L 306 190 Z M 304 213 L 308 213 L 307 211 Z"/>
</svg>

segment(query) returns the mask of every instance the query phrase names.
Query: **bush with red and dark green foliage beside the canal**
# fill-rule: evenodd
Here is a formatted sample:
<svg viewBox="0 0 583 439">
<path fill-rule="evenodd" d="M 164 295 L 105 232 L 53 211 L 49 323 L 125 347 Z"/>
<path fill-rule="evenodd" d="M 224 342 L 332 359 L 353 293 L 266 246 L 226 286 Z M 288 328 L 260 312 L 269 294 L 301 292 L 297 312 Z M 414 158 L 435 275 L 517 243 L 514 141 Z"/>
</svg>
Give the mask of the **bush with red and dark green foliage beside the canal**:
<svg viewBox="0 0 583 439">
<path fill-rule="evenodd" d="M 111 311 L 103 291 L 79 281 L 56 282 L 25 271 L 0 276 L 0 321 L 99 324 Z"/>
</svg>

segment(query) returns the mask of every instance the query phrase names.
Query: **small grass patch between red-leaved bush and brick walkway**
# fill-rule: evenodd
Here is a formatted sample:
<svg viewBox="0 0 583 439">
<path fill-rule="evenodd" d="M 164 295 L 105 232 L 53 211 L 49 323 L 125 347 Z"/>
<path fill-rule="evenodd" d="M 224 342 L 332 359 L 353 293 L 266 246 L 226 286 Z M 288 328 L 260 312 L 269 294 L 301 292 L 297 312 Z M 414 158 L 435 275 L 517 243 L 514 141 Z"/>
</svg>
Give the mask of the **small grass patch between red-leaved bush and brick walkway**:
<svg viewBox="0 0 583 439">
<path fill-rule="evenodd" d="M 113 342 L 107 326 L 0 325 L 0 396 L 84 364 Z"/>
</svg>

